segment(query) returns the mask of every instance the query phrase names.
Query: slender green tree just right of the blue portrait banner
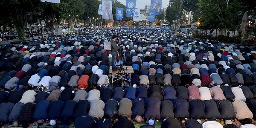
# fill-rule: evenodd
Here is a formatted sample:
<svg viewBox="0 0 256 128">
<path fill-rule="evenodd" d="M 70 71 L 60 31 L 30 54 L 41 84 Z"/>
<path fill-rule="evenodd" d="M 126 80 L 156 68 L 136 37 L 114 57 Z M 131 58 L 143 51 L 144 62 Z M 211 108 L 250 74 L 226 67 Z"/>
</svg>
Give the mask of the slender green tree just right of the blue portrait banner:
<svg viewBox="0 0 256 128">
<path fill-rule="evenodd" d="M 181 24 L 184 9 L 183 1 L 184 0 L 170 0 L 166 9 L 166 20 L 169 21 L 170 24 L 175 24 L 175 32 L 178 31 Z"/>
</svg>

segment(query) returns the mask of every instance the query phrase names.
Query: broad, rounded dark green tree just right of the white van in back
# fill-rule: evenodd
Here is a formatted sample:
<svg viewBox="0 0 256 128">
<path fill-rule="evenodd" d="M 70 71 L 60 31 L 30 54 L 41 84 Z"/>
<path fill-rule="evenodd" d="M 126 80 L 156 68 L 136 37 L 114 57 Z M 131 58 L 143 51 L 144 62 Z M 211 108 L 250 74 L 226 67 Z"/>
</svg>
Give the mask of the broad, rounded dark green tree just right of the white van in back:
<svg viewBox="0 0 256 128">
<path fill-rule="evenodd" d="M 200 23 L 199 29 L 235 30 L 241 22 L 241 5 L 237 0 L 198 0 L 199 9 L 195 21 Z"/>
</svg>

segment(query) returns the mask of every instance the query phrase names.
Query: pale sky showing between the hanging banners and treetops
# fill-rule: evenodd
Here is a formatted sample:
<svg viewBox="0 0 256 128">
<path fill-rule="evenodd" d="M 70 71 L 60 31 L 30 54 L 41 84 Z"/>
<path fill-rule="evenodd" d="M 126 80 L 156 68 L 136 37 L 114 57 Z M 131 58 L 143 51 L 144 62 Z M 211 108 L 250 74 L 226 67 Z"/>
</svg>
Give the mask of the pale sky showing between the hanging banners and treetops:
<svg viewBox="0 0 256 128">
<path fill-rule="evenodd" d="M 125 0 L 118 0 L 118 1 L 120 1 L 122 4 L 125 5 Z M 136 8 L 144 9 L 145 5 L 150 5 L 150 1 L 151 0 L 137 0 Z M 162 9 L 167 8 L 168 4 L 169 4 L 169 0 L 162 0 Z"/>
</svg>

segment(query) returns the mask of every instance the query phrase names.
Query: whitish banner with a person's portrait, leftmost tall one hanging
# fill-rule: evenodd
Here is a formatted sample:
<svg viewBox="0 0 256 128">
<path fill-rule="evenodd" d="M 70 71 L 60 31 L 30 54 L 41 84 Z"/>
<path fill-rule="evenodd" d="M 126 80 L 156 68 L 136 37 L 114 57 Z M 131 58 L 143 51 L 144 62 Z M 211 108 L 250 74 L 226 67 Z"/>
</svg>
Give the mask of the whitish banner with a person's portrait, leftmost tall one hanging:
<svg viewBox="0 0 256 128">
<path fill-rule="evenodd" d="M 102 0 L 102 4 L 103 4 L 102 19 L 113 20 L 112 0 Z"/>
</svg>

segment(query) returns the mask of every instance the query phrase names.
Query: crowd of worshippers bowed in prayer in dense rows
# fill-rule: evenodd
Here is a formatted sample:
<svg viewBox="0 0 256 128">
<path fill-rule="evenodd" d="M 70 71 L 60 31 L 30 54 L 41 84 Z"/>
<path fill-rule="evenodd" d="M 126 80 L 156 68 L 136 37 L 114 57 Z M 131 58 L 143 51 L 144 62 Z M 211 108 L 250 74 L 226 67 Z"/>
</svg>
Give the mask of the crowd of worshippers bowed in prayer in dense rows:
<svg viewBox="0 0 256 128">
<path fill-rule="evenodd" d="M 97 29 L 2 44 L 1 125 L 256 128 L 255 47 L 152 33 Z M 123 44 L 117 64 L 134 70 L 125 88 L 108 79 L 103 44 L 114 34 Z"/>
</svg>

